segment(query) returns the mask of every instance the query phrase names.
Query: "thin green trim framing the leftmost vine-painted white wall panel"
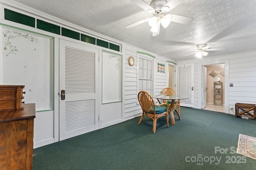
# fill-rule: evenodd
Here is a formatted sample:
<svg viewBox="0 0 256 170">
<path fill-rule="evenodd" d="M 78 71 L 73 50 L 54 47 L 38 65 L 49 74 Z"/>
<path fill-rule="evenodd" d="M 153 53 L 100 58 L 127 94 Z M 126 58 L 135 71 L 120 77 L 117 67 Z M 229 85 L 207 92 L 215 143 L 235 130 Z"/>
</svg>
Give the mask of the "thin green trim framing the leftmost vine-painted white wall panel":
<svg viewBox="0 0 256 170">
<path fill-rule="evenodd" d="M 0 23 L 0 25 L 2 26 L 5 26 L 5 27 L 9 27 L 9 28 L 14 28 L 14 29 L 18 29 L 18 30 L 21 30 L 21 31 L 26 31 L 28 33 L 33 33 L 33 34 L 36 34 L 36 35 L 41 35 L 41 36 L 44 36 L 44 37 L 48 37 L 48 38 L 51 38 L 52 39 L 52 67 L 53 70 L 52 70 L 52 108 L 53 109 L 48 109 L 48 110 L 42 110 L 42 111 L 54 111 L 54 37 L 52 36 L 49 36 L 49 35 L 45 35 L 45 34 L 41 34 L 41 33 L 37 33 L 37 32 L 34 32 L 34 31 L 29 31 L 29 30 L 26 30 L 26 29 L 22 29 L 22 28 L 18 28 L 18 27 L 13 27 L 13 26 L 10 26 L 10 25 L 6 25 L 6 24 L 3 24 L 3 23 Z M 36 112 L 42 112 L 42 111 L 36 111 Z"/>
</svg>

